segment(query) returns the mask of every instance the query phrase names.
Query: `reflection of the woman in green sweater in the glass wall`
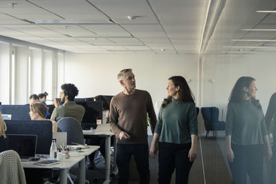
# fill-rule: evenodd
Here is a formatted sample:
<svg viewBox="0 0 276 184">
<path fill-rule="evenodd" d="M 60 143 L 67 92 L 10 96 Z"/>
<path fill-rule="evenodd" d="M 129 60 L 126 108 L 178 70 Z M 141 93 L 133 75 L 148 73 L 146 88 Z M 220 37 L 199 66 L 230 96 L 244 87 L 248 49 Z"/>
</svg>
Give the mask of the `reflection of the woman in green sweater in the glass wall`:
<svg viewBox="0 0 276 184">
<path fill-rule="evenodd" d="M 226 116 L 226 152 L 235 184 L 263 183 L 263 150 L 272 151 L 264 114 L 256 96 L 255 79 L 242 76 L 231 92 Z"/>
</svg>

